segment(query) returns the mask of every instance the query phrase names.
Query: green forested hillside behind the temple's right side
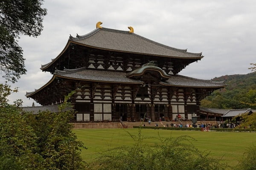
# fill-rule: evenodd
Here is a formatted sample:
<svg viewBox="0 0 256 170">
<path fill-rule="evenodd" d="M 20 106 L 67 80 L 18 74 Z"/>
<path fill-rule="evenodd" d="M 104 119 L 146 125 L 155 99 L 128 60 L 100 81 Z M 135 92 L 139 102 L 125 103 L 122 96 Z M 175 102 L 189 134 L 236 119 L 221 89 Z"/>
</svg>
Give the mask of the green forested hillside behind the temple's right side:
<svg viewBox="0 0 256 170">
<path fill-rule="evenodd" d="M 253 108 L 256 105 L 256 72 L 215 77 L 212 81 L 224 81 L 227 85 L 201 101 L 201 106 L 218 109 Z"/>
</svg>

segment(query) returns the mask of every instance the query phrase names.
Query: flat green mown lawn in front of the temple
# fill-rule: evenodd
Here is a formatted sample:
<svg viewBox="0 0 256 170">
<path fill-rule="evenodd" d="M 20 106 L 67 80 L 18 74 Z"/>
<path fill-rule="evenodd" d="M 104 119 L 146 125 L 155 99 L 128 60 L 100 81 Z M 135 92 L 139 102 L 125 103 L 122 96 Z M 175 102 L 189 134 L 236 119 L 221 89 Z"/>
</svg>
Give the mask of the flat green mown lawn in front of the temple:
<svg viewBox="0 0 256 170">
<path fill-rule="evenodd" d="M 83 149 L 81 156 L 86 162 L 95 160 L 99 153 L 107 150 L 108 147 L 117 147 L 122 145 L 132 145 L 133 141 L 127 132 L 137 134 L 138 129 L 76 129 L 78 140 L 84 142 L 88 148 Z M 211 152 L 211 156 L 222 158 L 227 164 L 234 166 L 247 147 L 256 145 L 256 133 L 247 132 L 201 132 L 201 131 L 183 131 L 183 130 L 154 130 L 143 129 L 142 134 L 145 137 L 157 136 L 177 137 L 188 135 L 197 141 L 195 146 L 201 150 Z M 147 144 L 155 144 L 158 139 L 145 139 Z"/>
</svg>

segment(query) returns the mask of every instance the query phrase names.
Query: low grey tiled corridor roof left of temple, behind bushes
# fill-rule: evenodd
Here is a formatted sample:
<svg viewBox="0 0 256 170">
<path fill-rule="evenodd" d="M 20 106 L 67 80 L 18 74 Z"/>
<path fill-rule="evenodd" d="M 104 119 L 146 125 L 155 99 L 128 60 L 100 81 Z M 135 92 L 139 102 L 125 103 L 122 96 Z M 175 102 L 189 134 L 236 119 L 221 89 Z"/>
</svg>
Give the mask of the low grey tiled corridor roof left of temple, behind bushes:
<svg viewBox="0 0 256 170">
<path fill-rule="evenodd" d="M 39 113 L 40 111 L 49 111 L 51 113 L 57 113 L 59 105 L 47 105 L 47 106 L 31 106 L 31 107 L 21 107 L 24 112 L 32 112 L 34 114 Z M 66 108 L 64 111 L 71 111 L 72 108 Z"/>
</svg>

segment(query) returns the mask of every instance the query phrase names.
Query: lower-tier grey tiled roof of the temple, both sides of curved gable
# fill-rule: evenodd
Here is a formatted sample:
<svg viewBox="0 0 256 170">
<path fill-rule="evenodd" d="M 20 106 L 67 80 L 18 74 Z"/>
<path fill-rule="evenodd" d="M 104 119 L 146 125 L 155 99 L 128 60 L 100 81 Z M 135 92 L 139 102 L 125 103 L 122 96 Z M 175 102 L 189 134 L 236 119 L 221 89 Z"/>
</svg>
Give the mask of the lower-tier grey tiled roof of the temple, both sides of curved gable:
<svg viewBox="0 0 256 170">
<path fill-rule="evenodd" d="M 201 80 L 191 77 L 185 77 L 180 75 L 168 75 L 170 78 L 166 81 L 160 82 L 161 85 L 175 86 L 175 87 L 193 87 L 193 88 L 222 88 L 223 82 L 211 82 L 210 80 Z M 143 81 L 138 79 L 131 79 L 126 77 L 125 72 L 119 71 L 105 71 L 105 70 L 88 70 L 85 67 L 76 69 L 64 69 L 60 71 L 55 70 L 54 76 L 47 84 L 33 92 L 27 92 L 26 96 L 29 97 L 37 91 L 45 88 L 51 83 L 55 77 L 61 77 L 66 79 L 74 79 L 90 82 L 110 82 L 110 83 L 126 83 L 126 84 L 144 84 Z"/>
</svg>

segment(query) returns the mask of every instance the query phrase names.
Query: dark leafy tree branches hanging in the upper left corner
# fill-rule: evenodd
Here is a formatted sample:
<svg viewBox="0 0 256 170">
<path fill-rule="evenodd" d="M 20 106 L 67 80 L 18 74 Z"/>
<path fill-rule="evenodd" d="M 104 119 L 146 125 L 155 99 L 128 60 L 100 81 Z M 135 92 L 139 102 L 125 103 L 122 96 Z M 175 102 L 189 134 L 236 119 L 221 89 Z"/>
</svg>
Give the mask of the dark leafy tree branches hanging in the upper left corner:
<svg viewBox="0 0 256 170">
<path fill-rule="evenodd" d="M 38 37 L 43 29 L 43 0 L 2 0 L 0 3 L 0 71 L 3 77 L 17 82 L 26 74 L 25 59 L 17 39 L 20 34 Z"/>
</svg>

